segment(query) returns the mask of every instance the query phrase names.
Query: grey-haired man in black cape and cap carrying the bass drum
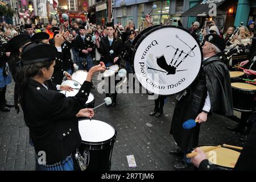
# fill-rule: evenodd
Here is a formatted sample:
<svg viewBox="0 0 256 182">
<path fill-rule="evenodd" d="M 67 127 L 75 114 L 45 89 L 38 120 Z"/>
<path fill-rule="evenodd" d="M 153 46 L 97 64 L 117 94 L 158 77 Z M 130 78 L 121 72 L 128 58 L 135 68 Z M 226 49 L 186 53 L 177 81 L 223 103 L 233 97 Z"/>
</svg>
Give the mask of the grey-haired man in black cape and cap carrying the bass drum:
<svg viewBox="0 0 256 182">
<path fill-rule="evenodd" d="M 207 121 L 209 111 L 233 115 L 229 70 L 217 55 L 225 49 L 224 40 L 218 35 L 209 34 L 202 49 L 203 68 L 192 86 L 181 93 L 172 117 L 170 134 L 179 148 L 171 150 L 170 154 L 183 156 L 174 164 L 176 170 L 192 166 L 185 155 L 198 146 L 200 123 Z M 199 122 L 191 130 L 185 130 L 183 123 L 188 119 Z"/>
</svg>

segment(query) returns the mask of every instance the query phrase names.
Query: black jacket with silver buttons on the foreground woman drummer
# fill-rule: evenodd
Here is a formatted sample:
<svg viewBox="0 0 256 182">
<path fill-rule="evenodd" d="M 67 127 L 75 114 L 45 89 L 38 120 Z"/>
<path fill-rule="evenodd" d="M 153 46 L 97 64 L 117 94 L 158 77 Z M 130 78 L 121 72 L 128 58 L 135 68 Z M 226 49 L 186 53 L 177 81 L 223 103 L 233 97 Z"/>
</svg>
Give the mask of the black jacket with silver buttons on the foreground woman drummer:
<svg viewBox="0 0 256 182">
<path fill-rule="evenodd" d="M 28 80 L 21 100 L 24 121 L 30 129 L 36 154 L 45 151 L 47 164 L 60 162 L 79 147 L 81 137 L 76 114 L 88 100 L 90 84 L 85 81 L 76 96 L 65 97 L 31 78 Z"/>
</svg>

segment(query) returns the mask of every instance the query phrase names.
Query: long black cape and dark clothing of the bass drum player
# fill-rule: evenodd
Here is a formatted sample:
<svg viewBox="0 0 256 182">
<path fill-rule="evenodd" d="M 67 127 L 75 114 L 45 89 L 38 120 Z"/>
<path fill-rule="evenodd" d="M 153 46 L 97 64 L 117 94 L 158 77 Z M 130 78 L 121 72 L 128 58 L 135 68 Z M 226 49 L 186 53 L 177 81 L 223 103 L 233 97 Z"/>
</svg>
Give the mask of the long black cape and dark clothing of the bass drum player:
<svg viewBox="0 0 256 182">
<path fill-rule="evenodd" d="M 187 89 L 187 94 L 177 101 L 170 134 L 184 153 L 198 145 L 200 124 L 184 130 L 182 124 L 195 119 L 201 113 L 207 91 L 211 110 L 222 115 L 233 115 L 232 90 L 228 68 L 218 57 L 210 57 L 203 63 L 197 80 Z"/>
</svg>

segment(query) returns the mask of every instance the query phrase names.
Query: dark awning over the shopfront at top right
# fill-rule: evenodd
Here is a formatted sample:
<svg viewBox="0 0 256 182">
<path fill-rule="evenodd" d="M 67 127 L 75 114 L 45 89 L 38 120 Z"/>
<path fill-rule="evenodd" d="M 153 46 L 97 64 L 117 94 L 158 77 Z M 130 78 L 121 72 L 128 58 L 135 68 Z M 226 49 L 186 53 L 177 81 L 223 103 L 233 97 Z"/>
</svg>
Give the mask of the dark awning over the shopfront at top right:
<svg viewBox="0 0 256 182">
<path fill-rule="evenodd" d="M 185 11 L 181 16 L 212 16 L 209 12 L 212 12 L 212 6 L 209 7 L 210 3 L 215 3 L 216 8 L 221 6 L 226 0 L 204 0 L 197 5 L 193 6 L 191 9 Z"/>
</svg>

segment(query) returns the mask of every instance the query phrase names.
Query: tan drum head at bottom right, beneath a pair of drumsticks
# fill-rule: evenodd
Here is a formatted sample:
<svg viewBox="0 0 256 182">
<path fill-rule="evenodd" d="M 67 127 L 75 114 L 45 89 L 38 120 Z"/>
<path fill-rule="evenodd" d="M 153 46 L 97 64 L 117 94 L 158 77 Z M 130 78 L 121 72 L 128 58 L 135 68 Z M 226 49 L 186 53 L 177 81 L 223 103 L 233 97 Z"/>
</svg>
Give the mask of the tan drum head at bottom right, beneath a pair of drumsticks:
<svg viewBox="0 0 256 182">
<path fill-rule="evenodd" d="M 201 149 L 209 148 L 216 145 L 199 146 Z M 240 156 L 240 152 L 226 147 L 216 148 L 212 151 L 205 152 L 207 158 L 213 164 L 217 165 L 221 169 L 232 170 L 236 166 L 237 160 Z M 212 159 L 212 160 L 211 160 Z"/>
</svg>

